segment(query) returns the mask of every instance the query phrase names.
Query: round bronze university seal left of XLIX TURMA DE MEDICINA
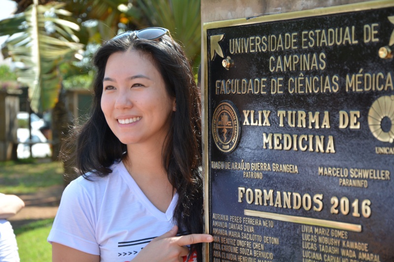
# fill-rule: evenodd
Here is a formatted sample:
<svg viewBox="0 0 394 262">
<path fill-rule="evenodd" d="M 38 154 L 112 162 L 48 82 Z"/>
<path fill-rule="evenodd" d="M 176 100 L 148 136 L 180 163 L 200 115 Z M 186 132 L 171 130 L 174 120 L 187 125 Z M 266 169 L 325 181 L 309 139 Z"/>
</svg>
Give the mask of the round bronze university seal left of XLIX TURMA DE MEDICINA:
<svg viewBox="0 0 394 262">
<path fill-rule="evenodd" d="M 221 102 L 212 117 L 212 136 L 219 150 L 229 153 L 239 140 L 239 114 L 230 101 Z"/>
</svg>

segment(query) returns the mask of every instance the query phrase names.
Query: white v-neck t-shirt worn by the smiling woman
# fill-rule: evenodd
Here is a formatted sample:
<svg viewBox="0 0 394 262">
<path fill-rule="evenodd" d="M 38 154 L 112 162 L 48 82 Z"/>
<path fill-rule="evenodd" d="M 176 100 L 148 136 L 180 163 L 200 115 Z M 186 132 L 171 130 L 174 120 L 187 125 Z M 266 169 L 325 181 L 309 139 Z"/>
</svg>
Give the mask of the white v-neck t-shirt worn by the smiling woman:
<svg viewBox="0 0 394 262">
<path fill-rule="evenodd" d="M 165 213 L 144 195 L 123 162 L 105 177 L 82 176 L 63 192 L 48 242 L 99 255 L 101 262 L 129 262 L 174 225 L 175 194 Z M 158 250 L 158 252 L 160 252 Z"/>
</svg>

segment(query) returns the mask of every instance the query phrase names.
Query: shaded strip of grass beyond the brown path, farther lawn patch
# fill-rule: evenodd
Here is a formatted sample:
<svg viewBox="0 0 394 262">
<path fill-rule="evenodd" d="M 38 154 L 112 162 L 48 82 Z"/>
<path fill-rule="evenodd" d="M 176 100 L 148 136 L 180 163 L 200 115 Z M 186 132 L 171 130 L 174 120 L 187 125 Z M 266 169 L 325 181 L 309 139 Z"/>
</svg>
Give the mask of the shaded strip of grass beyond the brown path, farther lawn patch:
<svg viewBox="0 0 394 262">
<path fill-rule="evenodd" d="M 0 192 L 3 194 L 33 193 L 40 188 L 62 184 L 63 168 L 60 162 L 0 162 Z"/>
</svg>

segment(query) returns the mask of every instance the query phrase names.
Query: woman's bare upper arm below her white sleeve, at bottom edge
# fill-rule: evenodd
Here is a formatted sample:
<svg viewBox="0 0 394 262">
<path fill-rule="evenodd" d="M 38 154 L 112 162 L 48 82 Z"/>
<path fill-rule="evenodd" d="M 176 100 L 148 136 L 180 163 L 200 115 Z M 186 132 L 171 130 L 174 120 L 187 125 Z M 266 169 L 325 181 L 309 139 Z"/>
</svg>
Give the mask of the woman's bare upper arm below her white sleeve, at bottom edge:
<svg viewBox="0 0 394 262">
<path fill-rule="evenodd" d="M 52 242 L 52 262 L 99 262 L 100 256 Z"/>
</svg>

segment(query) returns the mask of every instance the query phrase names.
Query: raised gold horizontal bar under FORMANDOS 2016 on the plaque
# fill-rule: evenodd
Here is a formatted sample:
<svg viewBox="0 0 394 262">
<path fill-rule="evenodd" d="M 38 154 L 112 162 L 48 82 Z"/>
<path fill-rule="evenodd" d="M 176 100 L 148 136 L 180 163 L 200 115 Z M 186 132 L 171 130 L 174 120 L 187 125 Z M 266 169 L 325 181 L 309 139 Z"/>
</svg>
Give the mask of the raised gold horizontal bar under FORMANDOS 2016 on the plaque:
<svg viewBox="0 0 394 262">
<path fill-rule="evenodd" d="M 261 217 L 261 218 L 266 218 L 266 219 L 274 219 L 274 220 L 284 221 L 284 222 L 305 224 L 305 225 L 311 225 L 311 226 L 341 229 L 341 230 L 347 230 L 347 231 L 353 231 L 353 232 L 359 232 L 359 233 L 361 232 L 361 225 L 336 222 L 336 221 L 330 221 L 330 220 L 324 220 L 324 219 L 289 216 L 289 215 L 275 214 L 275 213 L 248 210 L 248 209 L 244 210 L 244 215 L 245 216 Z"/>
</svg>

